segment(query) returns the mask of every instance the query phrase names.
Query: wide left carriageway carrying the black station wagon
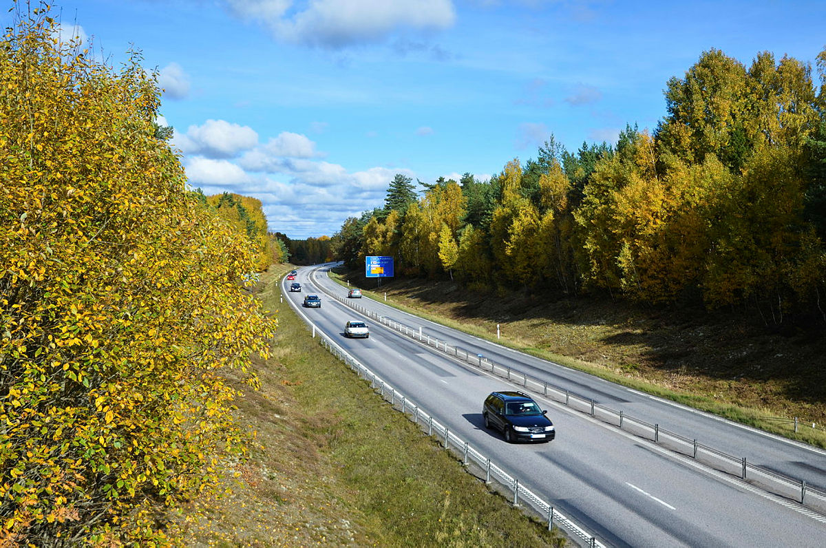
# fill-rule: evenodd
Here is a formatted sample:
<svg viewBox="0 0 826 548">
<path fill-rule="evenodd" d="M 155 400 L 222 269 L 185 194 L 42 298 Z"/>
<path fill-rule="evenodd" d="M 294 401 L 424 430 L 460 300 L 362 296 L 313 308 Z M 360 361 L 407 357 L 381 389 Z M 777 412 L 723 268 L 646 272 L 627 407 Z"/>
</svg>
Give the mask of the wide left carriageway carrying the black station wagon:
<svg viewBox="0 0 826 548">
<path fill-rule="evenodd" d="M 814 539 L 826 531 L 823 523 L 543 398 L 537 399 L 549 409 L 557 440 L 506 444 L 484 429 L 481 406 L 491 390 L 514 387 L 375 322 L 368 321 L 369 339 L 344 339 L 344 322 L 358 315 L 322 299 L 322 308 L 304 311 L 321 331 L 607 545 L 818 546 Z"/>
</svg>

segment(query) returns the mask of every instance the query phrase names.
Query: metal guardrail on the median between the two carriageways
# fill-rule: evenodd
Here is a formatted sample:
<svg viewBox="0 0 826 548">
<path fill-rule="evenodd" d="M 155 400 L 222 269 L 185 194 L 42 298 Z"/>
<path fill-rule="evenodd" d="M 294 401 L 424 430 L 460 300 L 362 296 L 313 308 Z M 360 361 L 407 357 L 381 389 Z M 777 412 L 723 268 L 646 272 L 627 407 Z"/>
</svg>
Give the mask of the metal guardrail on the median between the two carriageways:
<svg viewBox="0 0 826 548">
<path fill-rule="evenodd" d="M 413 340 L 432 346 L 435 350 L 451 355 L 458 360 L 463 360 L 468 363 L 468 365 L 487 371 L 502 379 L 509 380 L 511 383 L 521 384 L 526 390 L 541 393 L 545 397 L 553 399 L 553 401 L 558 403 L 564 403 L 567 407 L 571 407 L 578 412 L 586 413 L 602 422 L 617 426 L 623 431 L 628 431 L 635 436 L 653 441 L 658 446 L 665 447 L 681 455 L 690 456 L 697 462 L 701 462 L 725 474 L 743 479 L 749 484 L 765 489 L 769 493 L 780 495 L 783 498 L 800 503 L 817 512 L 826 513 L 826 491 L 810 487 L 803 479 L 790 478 L 771 469 L 753 465 L 748 462 L 745 457 L 729 455 L 710 446 L 705 446 L 695 439 L 690 439 L 676 432 L 662 429 L 658 424 L 651 424 L 639 420 L 622 411 L 617 411 L 601 403 L 596 403 L 596 401 L 591 398 L 582 397 L 576 393 L 572 393 L 570 390 L 532 377 L 524 371 L 520 371 L 520 369 L 516 369 L 510 365 L 497 364 L 492 360 L 488 360 L 484 355 L 469 352 L 457 345 L 449 345 L 445 341 L 439 341 L 439 339 L 424 333 L 421 328 L 418 330 L 411 329 L 411 327 L 401 322 L 390 320 L 361 305 L 353 303 L 352 299 L 335 293 L 326 294 L 348 307 L 353 308 L 363 316 L 373 318 L 373 320 L 382 323 L 384 326 L 399 331 L 411 337 Z"/>
</svg>

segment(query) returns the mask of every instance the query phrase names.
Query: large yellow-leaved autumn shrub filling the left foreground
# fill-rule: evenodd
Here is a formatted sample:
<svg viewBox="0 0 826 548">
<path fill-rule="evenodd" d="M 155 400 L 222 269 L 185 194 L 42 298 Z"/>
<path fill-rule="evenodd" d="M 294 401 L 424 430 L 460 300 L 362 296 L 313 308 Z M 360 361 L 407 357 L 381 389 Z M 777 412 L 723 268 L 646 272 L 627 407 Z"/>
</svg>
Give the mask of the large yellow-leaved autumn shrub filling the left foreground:
<svg viewBox="0 0 826 548">
<path fill-rule="evenodd" d="M 45 8 L 0 41 L 0 546 L 173 544 L 165 517 L 243 455 L 227 372 L 256 383 L 274 322 L 155 136 L 140 55 L 55 36 Z"/>
</svg>

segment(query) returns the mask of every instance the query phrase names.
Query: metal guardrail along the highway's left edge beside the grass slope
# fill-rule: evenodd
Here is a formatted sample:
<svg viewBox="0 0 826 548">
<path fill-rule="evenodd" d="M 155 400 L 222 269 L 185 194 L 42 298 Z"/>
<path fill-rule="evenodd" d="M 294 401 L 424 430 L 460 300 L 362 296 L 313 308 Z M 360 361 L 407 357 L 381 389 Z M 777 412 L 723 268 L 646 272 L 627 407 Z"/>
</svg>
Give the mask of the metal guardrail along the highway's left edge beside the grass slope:
<svg viewBox="0 0 826 548">
<path fill-rule="evenodd" d="M 477 465 L 482 470 L 482 473 L 485 474 L 486 484 L 496 481 L 506 488 L 507 491 L 513 493 L 514 506 L 518 506 L 520 503 L 529 505 L 529 507 L 534 509 L 534 512 L 538 512 L 540 516 L 547 518 L 548 531 L 554 526 L 563 528 L 579 546 L 605 548 L 605 545 L 596 540 L 596 536 L 586 531 L 583 527 L 580 527 L 563 512 L 553 507 L 552 504 L 546 502 L 529 488 L 526 488 L 524 484 L 520 484 L 519 478 L 508 474 L 505 469 L 496 465 L 489 457 L 483 455 L 481 451 L 471 446 L 468 441 L 464 441 L 461 437 L 451 432 L 448 426 L 444 426 L 434 419 L 432 415 L 425 412 L 424 409 L 415 403 L 415 400 L 407 398 L 403 393 L 387 383 L 387 381 L 362 365 L 352 355 L 349 355 L 346 350 L 341 348 L 329 336 L 326 336 L 323 331 L 317 329 L 316 325 L 298 310 L 297 305 L 292 302 L 292 299 L 287 299 L 287 302 L 299 312 L 304 322 L 312 328 L 313 336 L 318 336 L 320 344 L 329 350 L 332 355 L 335 355 L 339 360 L 342 360 L 348 365 L 350 369 L 353 369 L 360 378 L 370 381 L 371 388 L 377 393 L 380 393 L 382 398 L 390 402 L 393 409 L 404 413 L 417 426 L 426 430 L 428 436 L 435 436 L 436 439 L 439 440 L 439 444 L 444 446 L 445 449 L 453 451 L 453 454 L 457 457 L 461 456 L 463 465 Z"/>
</svg>

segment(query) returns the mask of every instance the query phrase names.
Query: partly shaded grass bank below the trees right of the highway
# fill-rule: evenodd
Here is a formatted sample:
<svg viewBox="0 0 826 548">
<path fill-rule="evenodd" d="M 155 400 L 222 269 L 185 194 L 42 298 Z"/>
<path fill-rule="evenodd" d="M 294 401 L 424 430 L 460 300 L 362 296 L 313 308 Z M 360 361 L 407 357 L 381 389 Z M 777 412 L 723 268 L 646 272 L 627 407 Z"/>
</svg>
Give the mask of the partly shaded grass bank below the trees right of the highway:
<svg viewBox="0 0 826 548">
<path fill-rule="evenodd" d="M 370 290 L 405 312 L 629 388 L 791 439 L 826 447 L 826 333 L 777 332 L 743 312 L 709 314 L 581 298 L 545 301 L 405 279 Z M 497 327 L 501 338 L 497 339 Z M 800 417 L 795 432 L 794 417 Z M 814 426 L 813 426 L 814 425 Z"/>
</svg>

